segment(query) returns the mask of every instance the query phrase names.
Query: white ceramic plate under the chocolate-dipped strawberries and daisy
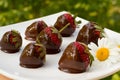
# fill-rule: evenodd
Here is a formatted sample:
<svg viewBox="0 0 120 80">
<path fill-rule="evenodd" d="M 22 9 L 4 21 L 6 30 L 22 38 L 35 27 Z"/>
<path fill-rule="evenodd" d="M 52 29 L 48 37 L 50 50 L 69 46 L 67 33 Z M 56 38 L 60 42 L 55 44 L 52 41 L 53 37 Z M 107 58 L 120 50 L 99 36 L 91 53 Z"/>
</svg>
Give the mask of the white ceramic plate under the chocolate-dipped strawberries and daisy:
<svg viewBox="0 0 120 80">
<path fill-rule="evenodd" d="M 0 39 L 2 38 L 3 34 L 6 31 L 9 31 L 11 29 L 18 30 L 21 33 L 23 39 L 23 45 L 21 47 L 21 50 L 15 54 L 7 54 L 0 50 L 0 74 L 4 74 L 15 80 L 86 80 L 86 79 L 96 80 L 109 76 L 119 71 L 120 63 L 117 63 L 109 68 L 105 67 L 105 68 L 96 69 L 93 66 L 86 72 L 79 74 L 69 74 L 62 72 L 58 69 L 58 61 L 64 49 L 70 42 L 76 40 L 80 28 L 86 23 L 88 23 L 87 20 L 84 20 L 82 18 L 77 18 L 77 20 L 81 20 L 82 23 L 79 25 L 79 28 L 76 29 L 74 34 L 71 37 L 63 38 L 61 52 L 58 54 L 46 56 L 46 63 L 44 66 L 37 69 L 28 69 L 19 66 L 20 54 L 24 49 L 24 47 L 30 42 L 24 39 L 25 37 L 24 32 L 26 30 L 26 27 L 29 26 L 34 21 L 38 21 L 38 20 L 44 20 L 48 25 L 54 25 L 57 17 L 63 13 L 65 13 L 65 11 L 30 21 L 25 21 L 17 24 L 8 25 L 5 27 L 0 27 Z M 114 33 L 111 30 L 105 29 L 105 31 L 111 37 L 114 36 L 115 38 L 117 38 L 119 36 L 118 33 Z"/>
</svg>

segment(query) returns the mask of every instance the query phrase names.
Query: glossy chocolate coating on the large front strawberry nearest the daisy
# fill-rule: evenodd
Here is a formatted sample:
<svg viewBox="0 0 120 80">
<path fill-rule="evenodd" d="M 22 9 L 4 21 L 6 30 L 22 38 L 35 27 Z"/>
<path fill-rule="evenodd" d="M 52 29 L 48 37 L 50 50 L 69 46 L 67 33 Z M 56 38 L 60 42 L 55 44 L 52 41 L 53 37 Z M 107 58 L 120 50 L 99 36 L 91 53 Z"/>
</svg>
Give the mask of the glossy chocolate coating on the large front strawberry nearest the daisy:
<svg viewBox="0 0 120 80">
<path fill-rule="evenodd" d="M 59 69 L 68 73 L 82 73 L 86 71 L 86 63 L 81 60 L 80 53 L 73 43 L 70 43 L 59 60 Z"/>
</svg>

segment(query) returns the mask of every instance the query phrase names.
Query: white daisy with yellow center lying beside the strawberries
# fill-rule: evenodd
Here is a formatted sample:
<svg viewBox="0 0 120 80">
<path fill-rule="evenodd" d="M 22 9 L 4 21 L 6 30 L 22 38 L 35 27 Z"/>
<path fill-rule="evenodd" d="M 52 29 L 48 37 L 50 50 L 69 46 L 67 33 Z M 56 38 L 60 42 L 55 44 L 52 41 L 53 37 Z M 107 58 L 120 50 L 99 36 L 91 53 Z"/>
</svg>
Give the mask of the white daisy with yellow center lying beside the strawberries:
<svg viewBox="0 0 120 80">
<path fill-rule="evenodd" d="M 98 39 L 98 45 L 91 42 L 88 47 L 94 57 L 93 66 L 108 67 L 120 61 L 119 48 L 109 38 Z"/>
</svg>

